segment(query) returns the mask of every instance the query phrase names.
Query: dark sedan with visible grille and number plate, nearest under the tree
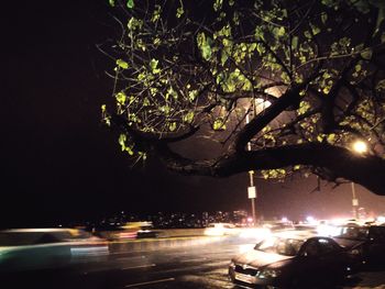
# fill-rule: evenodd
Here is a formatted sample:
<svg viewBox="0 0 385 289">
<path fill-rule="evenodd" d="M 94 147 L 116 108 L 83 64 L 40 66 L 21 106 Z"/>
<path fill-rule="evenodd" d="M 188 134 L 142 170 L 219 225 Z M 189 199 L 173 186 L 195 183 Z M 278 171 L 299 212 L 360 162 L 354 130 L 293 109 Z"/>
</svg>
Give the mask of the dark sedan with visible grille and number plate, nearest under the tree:
<svg viewBox="0 0 385 289">
<path fill-rule="evenodd" d="M 233 258 L 229 276 L 246 288 L 327 288 L 352 275 L 354 268 L 354 259 L 332 238 L 285 232 Z"/>
</svg>

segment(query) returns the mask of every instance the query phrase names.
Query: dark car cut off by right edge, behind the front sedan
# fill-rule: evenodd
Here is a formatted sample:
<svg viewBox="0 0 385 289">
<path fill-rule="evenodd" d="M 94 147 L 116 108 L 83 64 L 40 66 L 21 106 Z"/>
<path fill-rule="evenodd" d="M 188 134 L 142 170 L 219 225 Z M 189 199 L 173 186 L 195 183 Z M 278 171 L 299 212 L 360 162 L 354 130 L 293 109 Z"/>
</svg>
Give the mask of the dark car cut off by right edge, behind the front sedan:
<svg viewBox="0 0 385 289">
<path fill-rule="evenodd" d="M 383 266 L 385 259 L 385 226 L 343 225 L 334 240 L 349 248 L 362 264 Z"/>
</svg>

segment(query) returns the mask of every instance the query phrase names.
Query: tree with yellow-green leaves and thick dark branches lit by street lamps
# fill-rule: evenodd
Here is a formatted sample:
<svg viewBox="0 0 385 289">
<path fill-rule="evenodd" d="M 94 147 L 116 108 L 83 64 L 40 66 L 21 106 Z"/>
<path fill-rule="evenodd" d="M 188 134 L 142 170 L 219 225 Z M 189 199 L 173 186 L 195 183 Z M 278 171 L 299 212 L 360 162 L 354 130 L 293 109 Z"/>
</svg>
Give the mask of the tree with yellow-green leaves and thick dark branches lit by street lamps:
<svg viewBox="0 0 385 289">
<path fill-rule="evenodd" d="M 100 47 L 116 103 L 102 119 L 130 157 L 215 177 L 311 173 L 385 194 L 383 1 L 109 2 L 118 33 Z"/>
</svg>

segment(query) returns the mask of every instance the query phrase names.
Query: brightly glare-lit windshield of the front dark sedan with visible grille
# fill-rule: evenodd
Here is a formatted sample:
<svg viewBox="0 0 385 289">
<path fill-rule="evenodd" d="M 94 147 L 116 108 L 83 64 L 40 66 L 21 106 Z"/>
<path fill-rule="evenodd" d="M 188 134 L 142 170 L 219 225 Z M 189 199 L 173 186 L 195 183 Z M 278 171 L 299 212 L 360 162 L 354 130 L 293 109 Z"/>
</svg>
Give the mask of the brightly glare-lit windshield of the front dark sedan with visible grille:
<svg viewBox="0 0 385 289">
<path fill-rule="evenodd" d="M 304 243 L 305 241 L 302 240 L 270 237 L 258 243 L 255 249 L 285 256 L 295 256 Z"/>
</svg>

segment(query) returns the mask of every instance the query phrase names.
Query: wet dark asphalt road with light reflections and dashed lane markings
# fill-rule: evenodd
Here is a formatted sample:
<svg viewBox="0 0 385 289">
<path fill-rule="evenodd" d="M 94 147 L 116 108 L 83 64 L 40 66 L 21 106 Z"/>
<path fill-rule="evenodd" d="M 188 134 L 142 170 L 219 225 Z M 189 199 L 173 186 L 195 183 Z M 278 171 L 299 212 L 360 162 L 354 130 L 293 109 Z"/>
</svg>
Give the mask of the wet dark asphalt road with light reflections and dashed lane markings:
<svg viewBox="0 0 385 289">
<path fill-rule="evenodd" d="M 108 260 L 77 264 L 70 269 L 19 273 L 2 278 L 1 288 L 82 289 L 226 289 L 234 288 L 227 269 L 232 256 L 251 248 L 251 240 L 219 242 L 147 252 L 112 252 Z M 7 282 L 7 285 L 6 285 Z M 366 271 L 339 287 L 384 288 L 385 271 Z"/>
</svg>

